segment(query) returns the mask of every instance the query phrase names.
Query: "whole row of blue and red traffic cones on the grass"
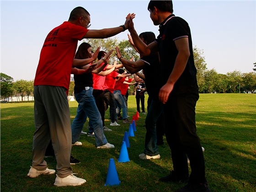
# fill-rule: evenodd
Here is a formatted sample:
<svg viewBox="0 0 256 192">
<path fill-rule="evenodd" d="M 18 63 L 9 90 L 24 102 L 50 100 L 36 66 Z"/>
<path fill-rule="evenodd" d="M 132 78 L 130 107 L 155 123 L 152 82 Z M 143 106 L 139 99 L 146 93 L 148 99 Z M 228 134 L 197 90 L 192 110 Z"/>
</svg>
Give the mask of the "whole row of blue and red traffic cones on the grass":
<svg viewBox="0 0 256 192">
<path fill-rule="evenodd" d="M 124 132 L 123 143 L 122 143 L 120 155 L 118 158 L 119 163 L 125 163 L 125 162 L 130 161 L 129 155 L 128 155 L 128 150 L 127 150 L 127 148 L 130 147 L 130 142 L 129 142 L 128 137 L 134 137 L 134 132 L 137 131 L 136 130 L 136 122 L 135 122 L 137 120 L 139 120 L 139 112 L 137 112 L 136 115 L 133 115 L 132 124 L 130 124 L 128 133 L 127 133 L 127 131 Z M 118 175 L 117 175 L 117 169 L 116 169 L 114 159 L 111 158 L 109 160 L 107 179 L 106 179 L 106 183 L 104 186 L 119 185 L 120 182 L 121 181 L 119 180 Z"/>
</svg>

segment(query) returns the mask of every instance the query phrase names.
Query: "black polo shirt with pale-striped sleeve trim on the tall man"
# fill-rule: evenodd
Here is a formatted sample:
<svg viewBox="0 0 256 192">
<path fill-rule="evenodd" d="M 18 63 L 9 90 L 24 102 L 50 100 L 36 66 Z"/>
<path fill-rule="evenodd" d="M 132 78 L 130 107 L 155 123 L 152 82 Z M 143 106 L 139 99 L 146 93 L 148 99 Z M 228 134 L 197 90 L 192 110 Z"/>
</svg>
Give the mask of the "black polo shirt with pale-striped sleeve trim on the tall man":
<svg viewBox="0 0 256 192">
<path fill-rule="evenodd" d="M 179 38 L 188 38 L 190 57 L 180 78 L 176 81 L 171 95 L 191 92 L 197 89 L 197 70 L 194 64 L 190 28 L 187 21 L 175 15 L 168 16 L 159 26 L 158 44 L 161 72 L 166 83 L 173 70 L 178 50 L 174 43 Z"/>
</svg>

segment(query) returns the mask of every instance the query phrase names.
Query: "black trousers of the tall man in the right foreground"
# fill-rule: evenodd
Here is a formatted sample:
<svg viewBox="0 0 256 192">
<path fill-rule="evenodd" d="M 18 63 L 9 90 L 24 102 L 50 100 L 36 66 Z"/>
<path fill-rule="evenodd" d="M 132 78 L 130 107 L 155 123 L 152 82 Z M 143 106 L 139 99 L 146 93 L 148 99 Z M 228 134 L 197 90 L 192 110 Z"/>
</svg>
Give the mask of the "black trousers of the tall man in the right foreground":
<svg viewBox="0 0 256 192">
<path fill-rule="evenodd" d="M 190 160 L 190 183 L 205 182 L 205 166 L 200 139 L 197 136 L 195 107 L 198 90 L 169 96 L 165 105 L 165 136 L 171 148 L 173 169 L 188 175 L 187 156 Z M 187 155 L 186 155 L 187 154 Z"/>
</svg>

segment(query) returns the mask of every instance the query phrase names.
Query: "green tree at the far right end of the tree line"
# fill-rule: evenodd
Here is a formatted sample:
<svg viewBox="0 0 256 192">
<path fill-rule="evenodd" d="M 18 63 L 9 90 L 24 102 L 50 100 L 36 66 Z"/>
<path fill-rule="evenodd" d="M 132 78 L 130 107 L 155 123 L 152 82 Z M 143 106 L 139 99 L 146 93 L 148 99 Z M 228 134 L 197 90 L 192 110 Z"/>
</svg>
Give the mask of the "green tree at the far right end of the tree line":
<svg viewBox="0 0 256 192">
<path fill-rule="evenodd" d="M 256 72 L 243 73 L 242 78 L 245 91 L 253 93 L 256 90 Z"/>
</svg>

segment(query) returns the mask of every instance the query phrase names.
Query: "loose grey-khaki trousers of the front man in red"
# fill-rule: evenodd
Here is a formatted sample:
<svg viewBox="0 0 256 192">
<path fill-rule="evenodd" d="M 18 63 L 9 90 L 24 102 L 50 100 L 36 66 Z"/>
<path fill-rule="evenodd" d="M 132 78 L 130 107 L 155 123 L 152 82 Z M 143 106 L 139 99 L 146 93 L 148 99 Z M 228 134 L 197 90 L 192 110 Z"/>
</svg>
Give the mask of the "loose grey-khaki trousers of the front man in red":
<svg viewBox="0 0 256 192">
<path fill-rule="evenodd" d="M 71 126 L 69 103 L 64 87 L 34 86 L 34 117 L 36 131 L 33 136 L 33 163 L 37 170 L 45 170 L 46 148 L 52 139 L 57 160 L 57 174 L 64 178 L 72 173 L 70 166 Z"/>
</svg>

